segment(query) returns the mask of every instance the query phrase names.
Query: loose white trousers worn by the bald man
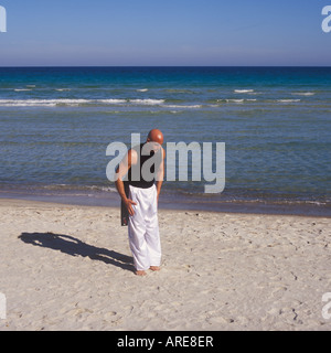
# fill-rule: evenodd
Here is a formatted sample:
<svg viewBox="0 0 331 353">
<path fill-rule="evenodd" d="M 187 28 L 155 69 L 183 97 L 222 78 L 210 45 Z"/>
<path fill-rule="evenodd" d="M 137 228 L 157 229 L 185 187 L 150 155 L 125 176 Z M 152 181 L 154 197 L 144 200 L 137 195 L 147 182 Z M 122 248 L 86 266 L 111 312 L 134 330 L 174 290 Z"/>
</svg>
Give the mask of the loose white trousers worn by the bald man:
<svg viewBox="0 0 331 353">
<path fill-rule="evenodd" d="M 130 188 L 129 197 L 135 214 L 129 216 L 129 244 L 137 270 L 147 270 L 161 264 L 161 242 L 158 221 L 157 186 Z"/>
</svg>

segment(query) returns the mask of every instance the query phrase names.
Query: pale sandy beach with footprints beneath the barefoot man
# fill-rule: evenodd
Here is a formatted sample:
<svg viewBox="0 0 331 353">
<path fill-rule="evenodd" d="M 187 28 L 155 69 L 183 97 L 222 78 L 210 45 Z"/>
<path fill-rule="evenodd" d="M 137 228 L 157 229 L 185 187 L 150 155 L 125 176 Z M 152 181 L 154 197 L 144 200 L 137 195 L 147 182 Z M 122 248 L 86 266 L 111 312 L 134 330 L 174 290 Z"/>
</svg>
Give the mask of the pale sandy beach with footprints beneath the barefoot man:
<svg viewBox="0 0 331 353">
<path fill-rule="evenodd" d="M 0 200 L 6 330 L 330 330 L 331 218 L 160 210 L 134 274 L 119 208 Z"/>
</svg>

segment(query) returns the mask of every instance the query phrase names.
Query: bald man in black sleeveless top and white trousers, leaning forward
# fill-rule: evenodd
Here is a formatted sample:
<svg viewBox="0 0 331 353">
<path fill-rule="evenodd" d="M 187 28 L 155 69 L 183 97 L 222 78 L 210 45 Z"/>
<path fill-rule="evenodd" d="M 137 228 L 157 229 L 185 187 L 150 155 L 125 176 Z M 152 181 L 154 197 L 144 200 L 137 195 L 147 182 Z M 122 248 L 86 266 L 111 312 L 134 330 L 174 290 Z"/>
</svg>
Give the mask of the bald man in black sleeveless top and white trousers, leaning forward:
<svg viewBox="0 0 331 353">
<path fill-rule="evenodd" d="M 158 271 L 161 265 L 158 201 L 164 175 L 162 143 L 162 132 L 151 130 L 147 141 L 131 148 L 116 171 L 116 188 L 128 213 L 129 244 L 138 276 L 146 276 L 147 269 Z"/>
</svg>

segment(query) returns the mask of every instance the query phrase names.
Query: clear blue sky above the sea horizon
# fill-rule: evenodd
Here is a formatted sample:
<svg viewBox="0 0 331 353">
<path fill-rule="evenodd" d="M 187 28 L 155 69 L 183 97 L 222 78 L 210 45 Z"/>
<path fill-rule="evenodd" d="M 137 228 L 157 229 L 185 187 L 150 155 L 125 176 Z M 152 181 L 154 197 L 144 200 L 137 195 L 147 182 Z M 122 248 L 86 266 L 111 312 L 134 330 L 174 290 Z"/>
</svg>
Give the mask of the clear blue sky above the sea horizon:
<svg viewBox="0 0 331 353">
<path fill-rule="evenodd" d="M 0 66 L 331 65 L 331 0 L 0 0 Z M 330 24 L 331 25 L 331 24 Z"/>
</svg>

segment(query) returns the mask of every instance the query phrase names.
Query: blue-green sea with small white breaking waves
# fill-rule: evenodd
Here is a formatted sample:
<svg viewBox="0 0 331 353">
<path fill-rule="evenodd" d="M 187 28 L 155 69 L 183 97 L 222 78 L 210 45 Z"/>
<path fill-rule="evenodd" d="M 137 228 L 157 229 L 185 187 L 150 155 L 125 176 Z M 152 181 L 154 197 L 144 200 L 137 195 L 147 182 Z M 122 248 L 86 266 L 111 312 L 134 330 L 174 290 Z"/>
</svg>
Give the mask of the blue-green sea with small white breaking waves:
<svg viewBox="0 0 331 353">
<path fill-rule="evenodd" d="M 107 147 L 153 128 L 225 143 L 222 192 L 160 207 L 331 216 L 331 67 L 0 67 L 0 197 L 119 206 Z"/>
</svg>

